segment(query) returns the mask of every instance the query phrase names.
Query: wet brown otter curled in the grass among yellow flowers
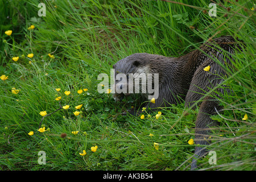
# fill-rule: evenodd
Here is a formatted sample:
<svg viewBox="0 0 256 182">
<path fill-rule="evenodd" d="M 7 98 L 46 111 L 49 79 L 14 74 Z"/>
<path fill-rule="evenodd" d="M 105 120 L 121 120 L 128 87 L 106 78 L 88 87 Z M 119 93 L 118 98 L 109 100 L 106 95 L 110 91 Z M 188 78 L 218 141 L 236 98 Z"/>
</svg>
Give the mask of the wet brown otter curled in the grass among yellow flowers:
<svg viewBox="0 0 256 182">
<path fill-rule="evenodd" d="M 115 76 L 123 73 L 127 76 L 127 80 L 129 80 L 129 73 L 145 73 L 146 75 L 158 73 L 158 98 L 155 99 L 155 104 L 147 102 L 147 108 L 170 106 L 185 100 L 185 107 L 195 109 L 195 102 L 203 98 L 201 102 L 197 102 L 200 107 L 196 118 L 195 143 L 207 145 L 210 143 L 207 140 L 210 128 L 217 125 L 210 116 L 216 114 L 216 110 L 222 109 L 216 97 L 221 98 L 218 92 L 223 93 L 228 89 L 218 88 L 218 92 L 212 92 L 212 95 L 209 94 L 207 97 L 205 94 L 224 81 L 227 74 L 225 68 L 232 68 L 232 54 L 237 48 L 241 49 L 232 36 L 222 36 L 181 57 L 135 53 L 119 60 L 113 68 Z M 206 67 L 209 70 L 205 69 Z M 128 90 L 131 85 L 129 81 L 126 82 L 127 85 L 120 83 L 121 79 L 115 80 L 115 89 L 125 86 Z M 153 82 L 152 85 L 154 87 L 155 83 Z M 121 101 L 123 97 L 129 95 L 127 93 L 115 92 L 113 97 L 115 101 Z M 138 94 L 144 98 L 144 101 L 148 100 L 149 93 Z M 134 114 L 133 111 L 129 113 Z M 195 148 L 195 158 L 192 160 L 191 169 L 197 168 L 196 159 L 205 154 L 207 154 L 206 147 Z"/>
</svg>

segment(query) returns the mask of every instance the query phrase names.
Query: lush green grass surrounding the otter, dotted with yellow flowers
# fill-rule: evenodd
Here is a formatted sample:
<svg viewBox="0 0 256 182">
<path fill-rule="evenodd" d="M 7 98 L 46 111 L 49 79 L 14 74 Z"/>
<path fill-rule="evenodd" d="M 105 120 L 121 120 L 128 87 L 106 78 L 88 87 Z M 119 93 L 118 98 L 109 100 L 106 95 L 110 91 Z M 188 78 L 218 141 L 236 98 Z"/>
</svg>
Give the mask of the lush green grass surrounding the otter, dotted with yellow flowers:
<svg viewBox="0 0 256 182">
<path fill-rule="evenodd" d="M 222 35 L 241 39 L 246 49 L 234 55 L 235 72 L 224 82 L 233 93 L 224 94 L 224 111 L 213 117 L 220 128 L 213 131 L 209 148 L 217 153 L 217 165 L 209 165 L 207 156 L 199 169 L 256 169 L 253 1 L 224 1 L 213 18 L 203 11 L 209 10 L 207 1 L 47 1 L 45 17 L 38 16 L 38 3 L 0 2 L 0 76 L 9 76 L 0 80 L 1 170 L 189 169 L 195 145 L 188 140 L 194 138 L 198 110 L 184 117 L 180 104 L 163 108 L 160 119 L 154 118 L 157 113 L 124 117 L 119 113 L 133 102 L 117 103 L 110 94 L 98 93 L 97 76 L 110 75 L 115 62 L 135 52 L 177 57 Z M 31 24 L 34 30 L 27 29 Z M 6 30 L 13 34 L 7 36 Z M 13 61 L 14 56 L 19 60 Z M 20 92 L 13 94 L 12 88 Z M 60 102 L 55 100 L 59 96 Z M 67 104 L 68 110 L 57 110 Z M 82 113 L 76 117 L 80 104 Z M 42 119 L 39 113 L 45 110 L 57 111 Z M 49 131 L 37 131 L 41 121 Z M 67 137 L 61 138 L 63 133 Z M 85 156 L 79 155 L 82 150 Z M 39 151 L 46 152 L 46 165 L 38 164 Z"/>
</svg>

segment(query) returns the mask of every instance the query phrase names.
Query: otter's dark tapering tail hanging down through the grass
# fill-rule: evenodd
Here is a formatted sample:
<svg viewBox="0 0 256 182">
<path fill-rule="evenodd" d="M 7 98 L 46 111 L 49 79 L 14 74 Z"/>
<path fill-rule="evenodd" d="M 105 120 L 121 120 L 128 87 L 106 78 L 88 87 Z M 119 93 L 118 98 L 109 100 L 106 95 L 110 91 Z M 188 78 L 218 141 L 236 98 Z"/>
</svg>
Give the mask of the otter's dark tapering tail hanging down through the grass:
<svg viewBox="0 0 256 182">
<path fill-rule="evenodd" d="M 210 118 L 211 115 L 216 114 L 216 109 L 220 110 L 222 107 L 219 105 L 219 101 L 213 97 L 206 97 L 205 100 L 201 103 L 199 114 L 196 118 L 196 127 L 195 127 L 195 143 L 200 145 L 208 145 L 210 143 L 209 134 L 210 128 L 217 126 L 217 122 L 213 121 Z M 201 158 L 206 155 L 208 152 L 206 147 L 196 147 L 195 148 L 195 158 Z M 197 167 L 197 159 L 192 160 L 191 169 Z"/>
</svg>

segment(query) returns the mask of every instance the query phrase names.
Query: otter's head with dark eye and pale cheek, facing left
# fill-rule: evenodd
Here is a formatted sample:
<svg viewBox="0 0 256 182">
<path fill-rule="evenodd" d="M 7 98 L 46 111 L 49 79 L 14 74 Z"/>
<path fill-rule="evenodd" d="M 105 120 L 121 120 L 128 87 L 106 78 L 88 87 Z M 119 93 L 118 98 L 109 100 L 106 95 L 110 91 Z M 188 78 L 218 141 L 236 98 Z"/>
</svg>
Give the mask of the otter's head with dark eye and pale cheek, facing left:
<svg viewBox="0 0 256 182">
<path fill-rule="evenodd" d="M 151 73 L 150 65 L 148 64 L 148 58 L 150 54 L 147 53 L 135 53 L 122 60 L 119 60 L 113 65 L 115 93 L 113 94 L 115 101 L 122 101 L 125 96 L 130 94 L 144 94 L 146 92 L 146 76 L 147 73 Z M 139 86 L 134 82 L 139 80 Z"/>
</svg>

